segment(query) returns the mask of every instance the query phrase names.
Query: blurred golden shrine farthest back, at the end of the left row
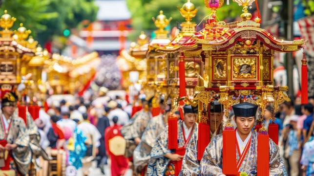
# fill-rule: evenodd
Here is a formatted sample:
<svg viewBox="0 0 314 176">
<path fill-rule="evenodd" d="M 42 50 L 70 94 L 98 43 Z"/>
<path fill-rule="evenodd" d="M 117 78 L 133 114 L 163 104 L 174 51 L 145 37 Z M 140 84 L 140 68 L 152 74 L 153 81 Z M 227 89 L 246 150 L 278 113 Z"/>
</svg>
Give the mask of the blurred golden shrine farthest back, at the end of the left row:
<svg viewBox="0 0 314 176">
<path fill-rule="evenodd" d="M 89 80 L 94 79 L 99 64 L 97 52 L 76 59 L 54 53 L 44 62 L 43 71 L 47 73 L 45 88 L 52 88 L 55 94 L 80 92 Z"/>
</svg>

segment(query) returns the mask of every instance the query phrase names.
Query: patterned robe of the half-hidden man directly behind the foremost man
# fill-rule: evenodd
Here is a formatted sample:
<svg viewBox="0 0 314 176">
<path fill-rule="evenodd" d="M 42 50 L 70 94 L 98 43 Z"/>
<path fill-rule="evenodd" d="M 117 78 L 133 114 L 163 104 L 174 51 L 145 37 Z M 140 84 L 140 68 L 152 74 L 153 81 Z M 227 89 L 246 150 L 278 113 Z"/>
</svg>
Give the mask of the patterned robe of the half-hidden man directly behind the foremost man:
<svg viewBox="0 0 314 176">
<path fill-rule="evenodd" d="M 222 125 L 219 128 L 218 134 L 222 133 Z M 216 131 L 217 132 L 217 131 Z M 212 140 L 216 133 L 210 132 L 210 139 Z M 186 154 L 182 161 L 182 169 L 179 176 L 199 176 L 200 175 L 200 161 L 197 160 L 197 142 L 198 142 L 198 131 L 194 132 L 191 140 L 188 144 Z"/>
</svg>

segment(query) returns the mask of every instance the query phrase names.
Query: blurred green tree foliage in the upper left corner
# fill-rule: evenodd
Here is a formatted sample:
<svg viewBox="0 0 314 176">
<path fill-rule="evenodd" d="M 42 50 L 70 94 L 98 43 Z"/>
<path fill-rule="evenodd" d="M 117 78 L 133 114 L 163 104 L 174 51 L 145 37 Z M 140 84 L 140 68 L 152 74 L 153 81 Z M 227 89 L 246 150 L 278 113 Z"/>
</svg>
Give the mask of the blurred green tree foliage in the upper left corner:
<svg viewBox="0 0 314 176">
<path fill-rule="evenodd" d="M 98 11 L 94 0 L 2 0 L 0 10 L 5 9 L 17 18 L 14 29 L 22 22 L 42 44 L 62 36 L 65 29 L 77 28 L 83 20 L 95 21 Z"/>
</svg>

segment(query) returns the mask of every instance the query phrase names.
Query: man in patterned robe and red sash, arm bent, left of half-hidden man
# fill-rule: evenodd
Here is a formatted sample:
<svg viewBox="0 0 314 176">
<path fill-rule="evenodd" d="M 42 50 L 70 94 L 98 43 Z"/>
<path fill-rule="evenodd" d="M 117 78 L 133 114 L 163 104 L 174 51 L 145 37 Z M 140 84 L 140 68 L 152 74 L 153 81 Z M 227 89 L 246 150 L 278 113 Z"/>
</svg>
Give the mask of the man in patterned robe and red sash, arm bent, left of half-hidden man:
<svg viewBox="0 0 314 176">
<path fill-rule="evenodd" d="M 186 148 L 191 136 L 197 132 L 197 108 L 186 105 L 184 109 L 184 120 L 178 120 L 178 149 Z M 168 149 L 168 126 L 162 132 L 150 152 L 150 161 L 147 167 L 147 176 L 174 176 L 180 172 L 175 171 L 176 162 L 182 161 L 184 155 L 175 154 L 175 151 Z"/>
</svg>

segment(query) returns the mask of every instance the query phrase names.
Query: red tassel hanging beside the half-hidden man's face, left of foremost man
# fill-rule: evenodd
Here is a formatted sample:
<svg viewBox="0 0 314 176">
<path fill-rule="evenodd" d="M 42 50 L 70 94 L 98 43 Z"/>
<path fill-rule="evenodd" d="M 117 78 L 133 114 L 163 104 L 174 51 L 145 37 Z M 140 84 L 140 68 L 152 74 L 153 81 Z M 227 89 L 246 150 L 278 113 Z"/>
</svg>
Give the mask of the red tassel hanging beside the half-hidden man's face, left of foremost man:
<svg viewBox="0 0 314 176">
<path fill-rule="evenodd" d="M 208 124 L 200 122 L 198 123 L 197 160 L 202 160 L 205 148 L 208 146 L 210 142 L 210 137 L 204 134 L 210 134 L 210 127 Z"/>
</svg>

